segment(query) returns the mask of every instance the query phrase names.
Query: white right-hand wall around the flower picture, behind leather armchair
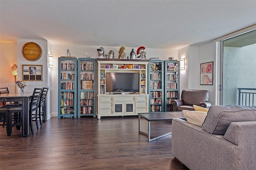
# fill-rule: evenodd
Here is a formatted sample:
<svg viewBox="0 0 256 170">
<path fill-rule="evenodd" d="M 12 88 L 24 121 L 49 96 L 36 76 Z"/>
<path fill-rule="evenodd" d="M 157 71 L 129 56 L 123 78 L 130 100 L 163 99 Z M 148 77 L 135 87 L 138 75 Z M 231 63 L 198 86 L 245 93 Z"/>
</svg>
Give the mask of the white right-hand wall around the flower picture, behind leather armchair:
<svg viewBox="0 0 256 170">
<path fill-rule="evenodd" d="M 214 74 L 213 85 L 200 85 L 200 63 L 214 61 L 216 69 L 216 45 L 208 42 L 203 45 L 184 47 L 178 50 L 178 60 L 185 58 L 185 70 L 180 72 L 180 92 L 183 89 L 200 89 L 210 91 L 209 102 L 215 105 L 216 75 Z M 181 95 L 181 93 L 180 93 Z"/>
</svg>

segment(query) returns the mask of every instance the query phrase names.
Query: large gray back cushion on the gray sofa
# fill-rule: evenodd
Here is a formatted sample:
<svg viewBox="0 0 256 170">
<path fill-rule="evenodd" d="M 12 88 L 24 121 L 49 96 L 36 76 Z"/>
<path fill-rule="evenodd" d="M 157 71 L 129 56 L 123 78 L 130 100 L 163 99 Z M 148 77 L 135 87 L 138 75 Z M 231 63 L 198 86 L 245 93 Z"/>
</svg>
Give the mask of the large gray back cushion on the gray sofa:
<svg viewBox="0 0 256 170">
<path fill-rule="evenodd" d="M 202 128 L 212 134 L 224 135 L 231 122 L 256 121 L 255 106 L 212 105 Z"/>
</svg>

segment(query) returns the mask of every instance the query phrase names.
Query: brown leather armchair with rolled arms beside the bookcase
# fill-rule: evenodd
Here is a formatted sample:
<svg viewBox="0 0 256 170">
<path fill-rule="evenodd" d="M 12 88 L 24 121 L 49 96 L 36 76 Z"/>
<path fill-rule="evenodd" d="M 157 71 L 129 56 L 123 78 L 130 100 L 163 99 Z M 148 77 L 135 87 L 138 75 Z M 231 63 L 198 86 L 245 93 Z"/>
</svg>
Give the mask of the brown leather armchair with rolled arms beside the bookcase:
<svg viewBox="0 0 256 170">
<path fill-rule="evenodd" d="M 212 105 L 210 102 L 207 102 L 209 93 L 207 90 L 184 89 L 181 93 L 181 99 L 174 99 L 172 101 L 173 111 L 194 111 L 193 105 L 209 108 Z"/>
</svg>

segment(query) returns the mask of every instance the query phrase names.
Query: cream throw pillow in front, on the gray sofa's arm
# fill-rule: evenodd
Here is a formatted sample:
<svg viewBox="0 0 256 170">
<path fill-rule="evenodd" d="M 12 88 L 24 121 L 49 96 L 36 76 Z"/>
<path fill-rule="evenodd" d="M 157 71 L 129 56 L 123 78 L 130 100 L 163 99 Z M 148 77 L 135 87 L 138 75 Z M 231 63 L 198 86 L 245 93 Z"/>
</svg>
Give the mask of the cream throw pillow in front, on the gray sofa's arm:
<svg viewBox="0 0 256 170">
<path fill-rule="evenodd" d="M 202 111 L 183 110 L 182 113 L 184 117 L 187 119 L 188 123 L 197 125 L 199 127 L 202 127 L 202 123 L 204 122 L 204 119 L 207 115 L 207 112 Z"/>
</svg>

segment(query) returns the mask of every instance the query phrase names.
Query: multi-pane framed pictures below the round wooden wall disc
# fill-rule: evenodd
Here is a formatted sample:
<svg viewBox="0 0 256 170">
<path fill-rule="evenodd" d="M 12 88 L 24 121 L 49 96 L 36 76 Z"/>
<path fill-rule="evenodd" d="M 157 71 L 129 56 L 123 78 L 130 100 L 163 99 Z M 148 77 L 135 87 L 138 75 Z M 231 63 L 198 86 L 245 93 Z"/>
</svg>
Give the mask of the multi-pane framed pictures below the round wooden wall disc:
<svg viewBox="0 0 256 170">
<path fill-rule="evenodd" d="M 43 65 L 22 65 L 22 80 L 43 81 Z"/>
</svg>

